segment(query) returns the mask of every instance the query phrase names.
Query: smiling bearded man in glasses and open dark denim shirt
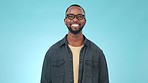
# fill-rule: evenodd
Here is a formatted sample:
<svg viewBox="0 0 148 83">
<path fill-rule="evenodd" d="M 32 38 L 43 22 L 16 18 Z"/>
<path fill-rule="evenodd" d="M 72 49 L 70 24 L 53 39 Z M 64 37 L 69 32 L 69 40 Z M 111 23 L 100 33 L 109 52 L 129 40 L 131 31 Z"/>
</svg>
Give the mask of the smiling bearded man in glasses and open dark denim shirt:
<svg viewBox="0 0 148 83">
<path fill-rule="evenodd" d="M 69 6 L 64 22 L 68 34 L 47 51 L 41 83 L 109 83 L 102 50 L 82 34 L 84 9 Z"/>
</svg>

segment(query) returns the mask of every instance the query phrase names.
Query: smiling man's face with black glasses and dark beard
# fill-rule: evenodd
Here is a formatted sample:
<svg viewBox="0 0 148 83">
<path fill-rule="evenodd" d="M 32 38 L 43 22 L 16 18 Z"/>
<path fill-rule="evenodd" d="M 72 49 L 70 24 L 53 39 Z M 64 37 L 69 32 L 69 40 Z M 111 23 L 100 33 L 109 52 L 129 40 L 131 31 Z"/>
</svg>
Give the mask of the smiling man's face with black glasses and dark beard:
<svg viewBox="0 0 148 83">
<path fill-rule="evenodd" d="M 82 29 L 86 23 L 85 15 L 80 7 L 72 6 L 68 9 L 64 19 L 65 25 L 72 34 L 78 34 L 82 32 Z"/>
</svg>

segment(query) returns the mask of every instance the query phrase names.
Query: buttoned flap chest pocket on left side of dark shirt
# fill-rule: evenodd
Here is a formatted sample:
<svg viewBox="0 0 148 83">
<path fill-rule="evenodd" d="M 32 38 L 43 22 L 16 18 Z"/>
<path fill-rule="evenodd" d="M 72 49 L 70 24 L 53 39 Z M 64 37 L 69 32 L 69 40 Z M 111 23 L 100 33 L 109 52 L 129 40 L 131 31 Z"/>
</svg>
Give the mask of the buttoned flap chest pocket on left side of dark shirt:
<svg viewBox="0 0 148 83">
<path fill-rule="evenodd" d="M 53 75 L 56 77 L 62 77 L 65 75 L 64 71 L 64 59 L 52 61 Z"/>
</svg>

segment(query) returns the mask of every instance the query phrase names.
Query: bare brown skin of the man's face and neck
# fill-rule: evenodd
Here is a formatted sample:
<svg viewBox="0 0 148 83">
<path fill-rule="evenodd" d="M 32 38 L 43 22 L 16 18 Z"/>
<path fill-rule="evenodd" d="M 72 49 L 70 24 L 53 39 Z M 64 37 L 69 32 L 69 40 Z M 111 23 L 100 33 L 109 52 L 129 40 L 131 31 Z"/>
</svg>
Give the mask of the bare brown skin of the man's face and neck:
<svg viewBox="0 0 148 83">
<path fill-rule="evenodd" d="M 72 6 L 68 9 L 66 14 L 74 14 L 74 15 L 83 14 L 84 15 L 84 12 L 80 7 Z M 72 30 L 78 30 L 81 27 L 85 26 L 86 19 L 78 20 L 77 18 L 74 18 L 73 20 L 69 20 L 68 18 L 65 18 L 64 23 L 67 27 L 70 27 Z M 71 26 L 72 24 L 79 24 L 79 26 L 73 27 Z M 68 31 L 67 40 L 71 46 L 75 46 L 75 47 L 82 46 L 84 43 L 82 31 L 80 31 L 77 34 L 73 34 L 70 31 Z"/>
</svg>

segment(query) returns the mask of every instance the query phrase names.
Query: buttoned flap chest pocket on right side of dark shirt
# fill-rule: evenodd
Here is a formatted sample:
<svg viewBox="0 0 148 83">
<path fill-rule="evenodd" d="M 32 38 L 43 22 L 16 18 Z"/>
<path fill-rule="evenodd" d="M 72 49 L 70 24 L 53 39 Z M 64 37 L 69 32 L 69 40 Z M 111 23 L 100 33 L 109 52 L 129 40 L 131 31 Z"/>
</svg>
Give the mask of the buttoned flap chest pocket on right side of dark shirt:
<svg viewBox="0 0 148 83">
<path fill-rule="evenodd" d="M 87 77 L 90 77 L 90 78 L 97 77 L 97 75 L 98 75 L 98 62 L 92 61 L 92 60 L 86 60 L 85 64 L 86 64 L 85 75 Z"/>
</svg>

